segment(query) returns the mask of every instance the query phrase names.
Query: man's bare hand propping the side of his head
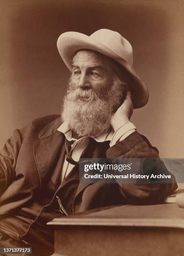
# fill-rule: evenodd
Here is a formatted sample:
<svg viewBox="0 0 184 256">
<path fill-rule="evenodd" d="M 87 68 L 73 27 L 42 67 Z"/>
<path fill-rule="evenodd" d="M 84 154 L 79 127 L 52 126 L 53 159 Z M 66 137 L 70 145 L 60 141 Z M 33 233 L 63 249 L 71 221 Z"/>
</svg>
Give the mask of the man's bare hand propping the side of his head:
<svg viewBox="0 0 184 256">
<path fill-rule="evenodd" d="M 128 91 L 123 104 L 116 110 L 111 117 L 111 125 L 114 131 L 129 122 L 133 113 L 133 103 L 131 101 L 131 92 Z"/>
</svg>

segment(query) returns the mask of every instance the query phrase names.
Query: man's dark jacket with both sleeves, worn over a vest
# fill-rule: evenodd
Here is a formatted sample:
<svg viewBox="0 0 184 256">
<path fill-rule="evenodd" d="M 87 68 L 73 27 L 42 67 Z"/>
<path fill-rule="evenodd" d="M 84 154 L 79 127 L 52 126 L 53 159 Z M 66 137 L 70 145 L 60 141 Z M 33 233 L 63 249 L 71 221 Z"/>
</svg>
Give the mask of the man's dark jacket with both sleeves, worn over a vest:
<svg viewBox="0 0 184 256">
<path fill-rule="evenodd" d="M 21 130 L 15 130 L 5 143 L 0 152 L 0 215 L 24 209 L 35 218 L 53 200 L 61 186 L 57 175 L 65 156 L 65 136 L 57 131 L 60 124 L 58 115 L 39 118 Z M 107 142 L 96 143 L 87 157 L 159 156 L 144 136 L 134 132 L 111 148 Z M 78 166 L 74 168 L 78 170 Z M 154 167 L 154 172 L 169 173 L 162 161 Z M 159 203 L 176 189 L 174 177 L 173 181 L 173 184 L 79 183 L 73 213 L 107 205 Z"/>
</svg>

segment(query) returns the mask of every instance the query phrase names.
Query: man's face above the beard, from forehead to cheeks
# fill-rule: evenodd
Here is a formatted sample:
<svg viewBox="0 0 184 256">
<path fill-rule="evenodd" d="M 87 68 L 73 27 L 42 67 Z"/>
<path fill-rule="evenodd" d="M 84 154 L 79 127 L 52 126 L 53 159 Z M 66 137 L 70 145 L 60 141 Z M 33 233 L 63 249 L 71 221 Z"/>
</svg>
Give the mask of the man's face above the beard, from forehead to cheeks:
<svg viewBox="0 0 184 256">
<path fill-rule="evenodd" d="M 73 60 L 71 81 L 75 89 L 93 90 L 103 95 L 113 83 L 112 68 L 108 57 L 95 51 L 78 51 Z M 88 100 L 88 98 L 83 98 Z"/>
</svg>

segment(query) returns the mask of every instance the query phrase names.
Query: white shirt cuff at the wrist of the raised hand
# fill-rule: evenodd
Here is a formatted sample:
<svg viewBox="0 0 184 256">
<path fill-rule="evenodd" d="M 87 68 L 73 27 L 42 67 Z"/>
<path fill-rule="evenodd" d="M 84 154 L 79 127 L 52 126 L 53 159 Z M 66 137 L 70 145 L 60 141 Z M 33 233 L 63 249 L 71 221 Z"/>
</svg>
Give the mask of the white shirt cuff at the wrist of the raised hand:
<svg viewBox="0 0 184 256">
<path fill-rule="evenodd" d="M 110 147 L 114 146 L 117 141 L 124 140 L 131 133 L 134 133 L 134 131 L 136 131 L 136 127 L 133 123 L 129 122 L 129 123 L 126 123 L 125 125 L 122 125 L 121 127 L 118 128 L 118 130 L 114 132 L 109 146 Z"/>
</svg>

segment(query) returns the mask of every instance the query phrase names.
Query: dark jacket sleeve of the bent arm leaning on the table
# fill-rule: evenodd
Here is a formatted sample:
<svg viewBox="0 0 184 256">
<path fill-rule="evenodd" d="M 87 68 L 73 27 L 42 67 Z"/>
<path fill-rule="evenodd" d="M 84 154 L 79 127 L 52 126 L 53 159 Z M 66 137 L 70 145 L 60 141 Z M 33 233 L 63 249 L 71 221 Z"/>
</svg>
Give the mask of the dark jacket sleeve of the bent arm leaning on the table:
<svg viewBox="0 0 184 256">
<path fill-rule="evenodd" d="M 156 204 L 164 202 L 164 198 L 172 194 L 177 188 L 176 180 L 159 160 L 159 152 L 152 147 L 146 137 L 139 135 L 136 131 L 116 143 L 106 152 L 108 158 L 141 158 L 157 159 L 156 165 L 150 165 L 151 174 L 171 175 L 172 183 L 119 183 L 121 194 L 128 203 L 131 204 Z M 144 167 L 143 167 L 144 168 Z M 146 172 L 147 172 L 146 168 Z"/>
</svg>

